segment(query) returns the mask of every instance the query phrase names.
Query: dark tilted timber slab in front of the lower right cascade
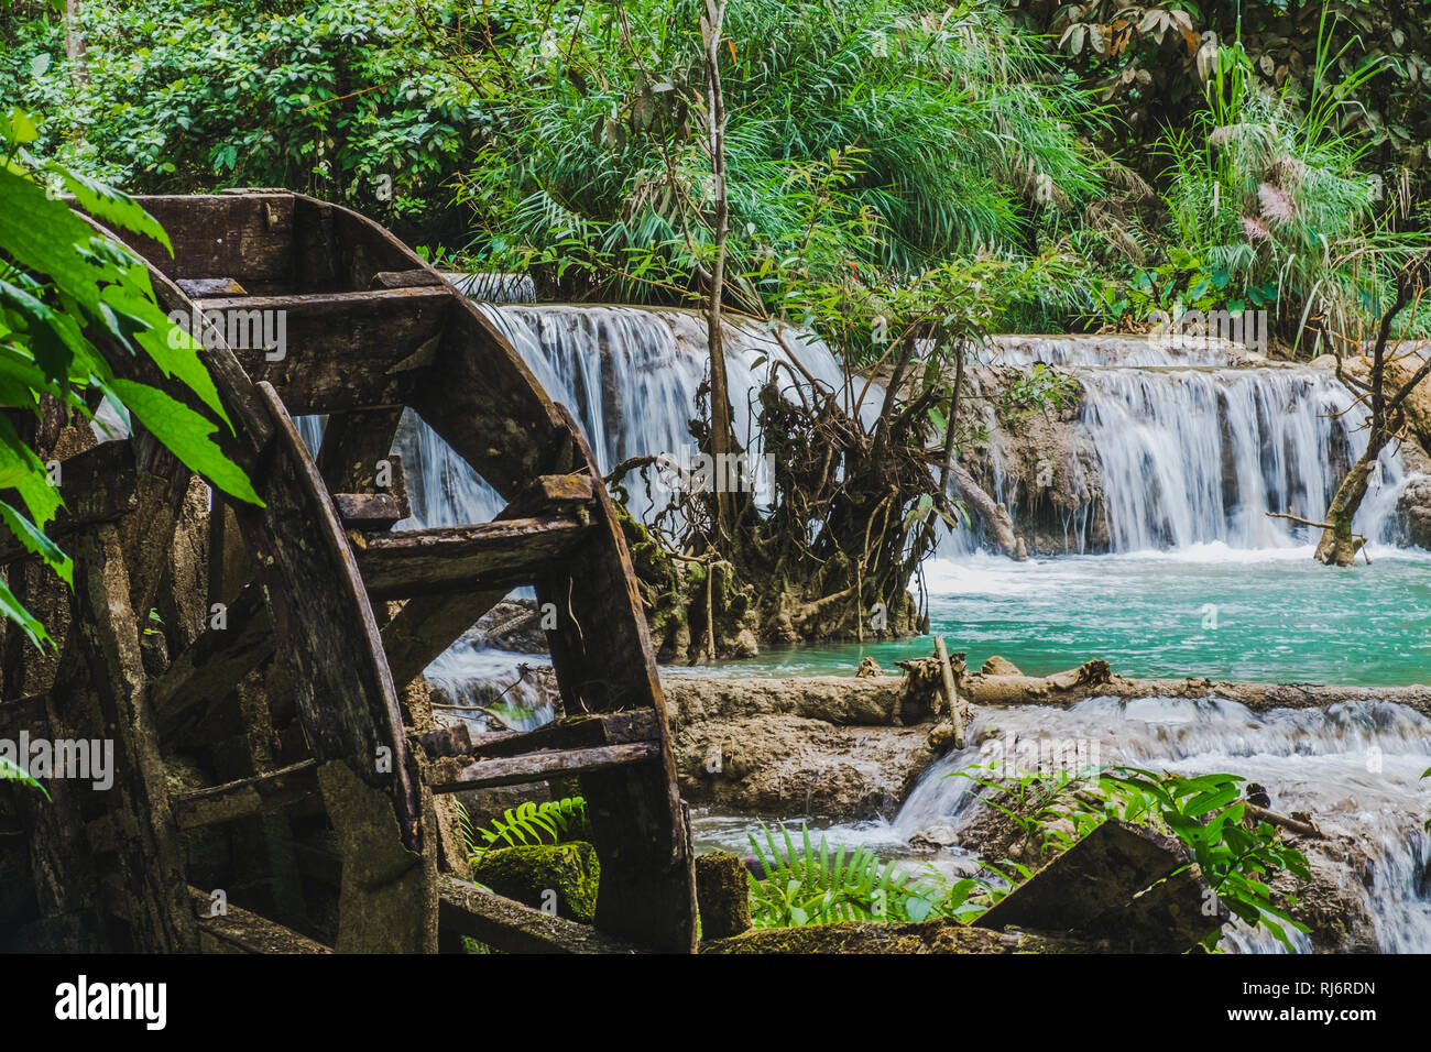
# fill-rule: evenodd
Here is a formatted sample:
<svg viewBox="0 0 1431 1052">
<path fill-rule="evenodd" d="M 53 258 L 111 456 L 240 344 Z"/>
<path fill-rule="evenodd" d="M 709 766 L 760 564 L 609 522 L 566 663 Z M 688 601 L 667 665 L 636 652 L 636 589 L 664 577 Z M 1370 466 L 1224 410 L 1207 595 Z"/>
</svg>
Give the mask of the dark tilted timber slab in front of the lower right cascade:
<svg viewBox="0 0 1431 1052">
<path fill-rule="evenodd" d="M 1079 930 L 1125 907 L 1155 880 L 1185 865 L 1186 852 L 1172 837 L 1109 819 L 973 923 L 990 929 Z"/>
</svg>

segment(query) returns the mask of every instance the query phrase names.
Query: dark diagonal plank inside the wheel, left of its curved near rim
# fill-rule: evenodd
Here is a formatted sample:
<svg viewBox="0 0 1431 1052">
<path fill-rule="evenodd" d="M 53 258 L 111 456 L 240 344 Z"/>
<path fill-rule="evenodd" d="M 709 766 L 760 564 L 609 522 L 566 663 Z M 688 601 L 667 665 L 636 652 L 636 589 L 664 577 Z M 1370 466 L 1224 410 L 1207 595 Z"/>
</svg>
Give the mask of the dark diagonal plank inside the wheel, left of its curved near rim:
<svg viewBox="0 0 1431 1052">
<path fill-rule="evenodd" d="M 225 627 L 209 627 L 149 688 L 160 740 L 200 724 L 248 673 L 273 657 L 273 620 L 263 588 L 250 584 L 225 611 Z"/>
</svg>

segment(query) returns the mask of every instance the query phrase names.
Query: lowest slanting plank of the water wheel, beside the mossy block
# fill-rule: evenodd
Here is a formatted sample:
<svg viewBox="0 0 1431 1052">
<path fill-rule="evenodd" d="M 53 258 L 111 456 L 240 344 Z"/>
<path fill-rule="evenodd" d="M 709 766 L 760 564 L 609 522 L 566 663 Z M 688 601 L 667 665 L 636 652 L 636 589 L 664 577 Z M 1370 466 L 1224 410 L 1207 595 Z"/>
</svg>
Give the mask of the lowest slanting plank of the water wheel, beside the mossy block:
<svg viewBox="0 0 1431 1052">
<path fill-rule="evenodd" d="M 504 953 L 640 953 L 588 925 L 550 916 L 519 902 L 444 876 L 438 926 Z"/>
</svg>

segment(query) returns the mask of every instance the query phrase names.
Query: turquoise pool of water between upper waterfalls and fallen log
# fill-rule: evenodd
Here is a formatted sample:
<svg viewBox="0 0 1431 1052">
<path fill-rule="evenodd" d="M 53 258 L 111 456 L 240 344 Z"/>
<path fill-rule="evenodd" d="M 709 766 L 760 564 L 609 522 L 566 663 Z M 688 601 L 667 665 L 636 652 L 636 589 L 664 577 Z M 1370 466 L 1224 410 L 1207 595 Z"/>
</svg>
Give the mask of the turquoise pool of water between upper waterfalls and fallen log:
<svg viewBox="0 0 1431 1052">
<path fill-rule="evenodd" d="M 927 567 L 930 621 L 969 667 L 1000 654 L 1042 676 L 1102 657 L 1125 676 L 1259 683 L 1431 683 L 1431 554 L 1372 548 L 1322 567 L 1311 548 L 1062 557 L 987 555 Z M 927 637 L 770 648 L 693 674 L 853 673 L 932 653 Z M 675 671 L 675 670 L 671 670 Z"/>
</svg>

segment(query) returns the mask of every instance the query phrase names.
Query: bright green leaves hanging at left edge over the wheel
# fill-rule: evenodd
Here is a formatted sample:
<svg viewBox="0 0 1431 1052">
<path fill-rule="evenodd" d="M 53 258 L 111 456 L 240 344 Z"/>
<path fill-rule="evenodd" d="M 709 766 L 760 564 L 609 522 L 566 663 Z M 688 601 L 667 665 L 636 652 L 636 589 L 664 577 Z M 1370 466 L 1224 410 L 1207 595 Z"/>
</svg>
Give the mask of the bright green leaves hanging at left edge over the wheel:
<svg viewBox="0 0 1431 1052">
<path fill-rule="evenodd" d="M 155 302 L 147 266 L 129 249 L 87 225 L 57 193 L 73 193 L 92 216 L 167 246 L 163 229 L 126 196 L 27 152 L 39 137 L 20 109 L 0 115 L 0 522 L 27 551 L 73 584 L 69 555 L 44 527 L 63 505 L 59 478 L 17 425 L 39 421 L 44 399 L 66 417 L 93 421 L 102 401 L 147 428 L 186 465 L 245 501 L 258 495 L 213 441 L 229 427 L 199 345 Z M 197 398 L 207 415 L 166 392 L 116 376 L 106 349 L 147 355 Z M 0 617 L 14 621 L 36 647 L 53 646 L 40 624 L 0 581 Z"/>
</svg>

